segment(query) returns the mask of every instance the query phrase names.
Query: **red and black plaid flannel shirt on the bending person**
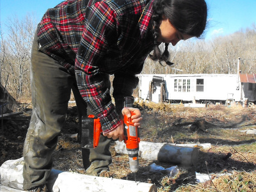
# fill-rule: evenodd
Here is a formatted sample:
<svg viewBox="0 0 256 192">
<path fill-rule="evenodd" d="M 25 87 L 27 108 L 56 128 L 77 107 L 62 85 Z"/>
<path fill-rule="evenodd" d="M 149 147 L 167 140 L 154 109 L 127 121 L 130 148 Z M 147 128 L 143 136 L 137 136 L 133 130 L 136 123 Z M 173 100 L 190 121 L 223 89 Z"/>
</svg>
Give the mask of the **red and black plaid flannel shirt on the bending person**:
<svg viewBox="0 0 256 192">
<path fill-rule="evenodd" d="M 83 99 L 110 132 L 122 122 L 148 53 L 154 0 L 67 0 L 47 10 L 38 26 L 40 50 L 76 71 Z M 111 102 L 109 74 L 114 74 Z"/>
</svg>

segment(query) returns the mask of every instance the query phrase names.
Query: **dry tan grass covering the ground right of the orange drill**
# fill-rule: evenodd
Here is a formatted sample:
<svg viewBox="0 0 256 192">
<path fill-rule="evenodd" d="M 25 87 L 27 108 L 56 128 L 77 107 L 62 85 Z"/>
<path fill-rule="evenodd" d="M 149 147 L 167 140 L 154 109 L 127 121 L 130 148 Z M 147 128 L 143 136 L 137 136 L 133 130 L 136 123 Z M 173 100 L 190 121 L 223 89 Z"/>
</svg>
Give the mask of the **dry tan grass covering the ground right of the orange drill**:
<svg viewBox="0 0 256 192">
<path fill-rule="evenodd" d="M 196 167 L 181 166 L 177 177 L 162 177 L 157 191 L 256 191 L 256 136 L 240 132 L 256 128 L 255 108 L 227 108 L 221 105 L 184 108 L 182 104 L 157 106 L 145 102 L 139 105 L 148 109 L 147 113 L 143 113 L 143 140 L 212 144 L 211 150 L 200 150 Z M 189 130 L 189 125 L 196 119 L 207 122 L 204 130 Z M 223 160 L 227 154 L 231 157 Z M 214 173 L 216 176 L 208 182 L 196 184 L 195 172 Z M 219 173 L 232 175 L 226 179 L 225 176 L 217 177 Z M 241 175 L 238 180 L 237 175 Z"/>
</svg>

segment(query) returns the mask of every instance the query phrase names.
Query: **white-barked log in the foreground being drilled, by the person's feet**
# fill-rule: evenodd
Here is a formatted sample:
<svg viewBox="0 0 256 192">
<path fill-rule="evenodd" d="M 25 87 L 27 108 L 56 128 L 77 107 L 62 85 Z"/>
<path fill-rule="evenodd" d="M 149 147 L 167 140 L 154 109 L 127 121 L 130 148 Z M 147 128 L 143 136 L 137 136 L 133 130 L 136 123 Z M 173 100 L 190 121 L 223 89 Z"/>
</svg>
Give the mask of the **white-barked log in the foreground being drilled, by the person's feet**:
<svg viewBox="0 0 256 192">
<path fill-rule="evenodd" d="M 23 157 L 16 160 L 4 162 L 0 167 L 1 184 L 3 191 L 10 188 L 23 189 Z M 94 177 L 72 172 L 61 172 L 52 170 L 49 179 L 47 180 L 47 188 L 53 192 L 94 192 L 94 191 L 141 191 L 141 192 L 156 192 L 156 186 L 145 182 L 134 182 L 132 180 L 113 179 L 106 177 Z M 1 190 L 0 190 L 1 191 Z M 1 191 L 2 192 L 2 191 Z M 4 191 L 5 192 L 5 191 Z"/>
</svg>

